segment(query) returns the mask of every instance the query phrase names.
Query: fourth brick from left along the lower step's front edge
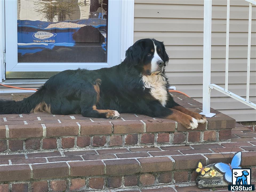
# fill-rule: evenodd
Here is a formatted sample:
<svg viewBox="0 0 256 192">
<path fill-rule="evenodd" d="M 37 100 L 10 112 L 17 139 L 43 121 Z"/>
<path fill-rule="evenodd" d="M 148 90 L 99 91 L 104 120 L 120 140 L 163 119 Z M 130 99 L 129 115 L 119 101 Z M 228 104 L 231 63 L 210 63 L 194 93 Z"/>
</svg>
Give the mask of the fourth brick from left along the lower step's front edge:
<svg viewBox="0 0 256 192">
<path fill-rule="evenodd" d="M 139 172 L 139 163 L 135 159 L 104 160 L 106 174 L 133 174 Z"/>
</svg>

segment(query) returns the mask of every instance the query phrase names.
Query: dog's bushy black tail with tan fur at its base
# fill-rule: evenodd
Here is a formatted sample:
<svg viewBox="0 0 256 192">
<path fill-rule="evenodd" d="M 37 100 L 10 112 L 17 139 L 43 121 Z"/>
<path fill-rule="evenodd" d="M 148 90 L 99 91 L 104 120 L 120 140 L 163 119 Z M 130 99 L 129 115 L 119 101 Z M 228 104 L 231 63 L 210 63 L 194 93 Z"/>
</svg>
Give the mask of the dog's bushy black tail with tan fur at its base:
<svg viewBox="0 0 256 192">
<path fill-rule="evenodd" d="M 50 112 L 50 107 L 43 101 L 44 87 L 22 101 L 0 100 L 0 114 L 28 114 L 31 112 Z"/>
</svg>

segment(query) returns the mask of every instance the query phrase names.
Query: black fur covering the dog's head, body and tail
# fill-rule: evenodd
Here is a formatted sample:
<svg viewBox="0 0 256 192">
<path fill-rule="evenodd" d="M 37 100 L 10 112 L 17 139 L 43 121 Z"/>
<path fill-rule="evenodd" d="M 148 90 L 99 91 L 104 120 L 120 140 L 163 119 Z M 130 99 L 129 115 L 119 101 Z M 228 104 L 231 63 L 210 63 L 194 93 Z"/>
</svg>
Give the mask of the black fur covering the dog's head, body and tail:
<svg viewBox="0 0 256 192">
<path fill-rule="evenodd" d="M 151 62 L 149 56 L 154 49 L 153 41 L 161 51 L 158 53 L 166 65 L 169 57 L 162 42 L 155 39 L 141 39 L 126 51 L 126 59 L 117 66 L 99 70 L 65 70 L 51 77 L 36 93 L 23 101 L 0 101 L 0 114 L 21 114 L 30 111 L 44 101 L 51 106 L 52 114 L 82 114 L 86 117 L 105 117 L 92 109 L 117 110 L 119 113 L 138 113 L 151 117 L 167 117 L 169 109 L 178 106 L 168 94 L 166 106 L 150 94 L 141 81 L 143 66 Z M 165 71 L 162 74 L 165 76 Z M 94 89 L 101 79 L 100 99 Z M 167 81 L 167 78 L 166 78 Z M 168 90 L 169 83 L 166 84 Z"/>
</svg>

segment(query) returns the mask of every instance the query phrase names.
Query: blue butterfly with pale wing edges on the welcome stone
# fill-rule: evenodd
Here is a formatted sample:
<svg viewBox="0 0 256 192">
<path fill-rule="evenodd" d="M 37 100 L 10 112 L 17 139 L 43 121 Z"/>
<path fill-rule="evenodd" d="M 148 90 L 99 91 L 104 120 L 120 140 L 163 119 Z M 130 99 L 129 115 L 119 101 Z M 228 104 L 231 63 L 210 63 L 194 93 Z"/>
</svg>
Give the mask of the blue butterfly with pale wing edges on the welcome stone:
<svg viewBox="0 0 256 192">
<path fill-rule="evenodd" d="M 241 169 L 242 152 L 237 152 L 231 160 L 231 164 L 216 163 L 214 167 L 221 173 L 224 173 L 223 177 L 227 183 L 232 183 L 232 169 Z"/>
</svg>

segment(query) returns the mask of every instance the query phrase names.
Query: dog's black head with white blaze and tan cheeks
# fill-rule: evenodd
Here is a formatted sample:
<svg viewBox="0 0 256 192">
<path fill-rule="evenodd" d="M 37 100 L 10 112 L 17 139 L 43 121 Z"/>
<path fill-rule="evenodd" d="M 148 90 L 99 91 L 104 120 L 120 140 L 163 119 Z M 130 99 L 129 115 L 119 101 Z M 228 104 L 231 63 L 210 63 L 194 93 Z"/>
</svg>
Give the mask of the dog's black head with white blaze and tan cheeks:
<svg viewBox="0 0 256 192">
<path fill-rule="evenodd" d="M 126 61 L 143 75 L 159 74 L 169 61 L 163 42 L 140 39 L 126 51 Z"/>
</svg>

